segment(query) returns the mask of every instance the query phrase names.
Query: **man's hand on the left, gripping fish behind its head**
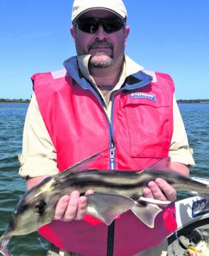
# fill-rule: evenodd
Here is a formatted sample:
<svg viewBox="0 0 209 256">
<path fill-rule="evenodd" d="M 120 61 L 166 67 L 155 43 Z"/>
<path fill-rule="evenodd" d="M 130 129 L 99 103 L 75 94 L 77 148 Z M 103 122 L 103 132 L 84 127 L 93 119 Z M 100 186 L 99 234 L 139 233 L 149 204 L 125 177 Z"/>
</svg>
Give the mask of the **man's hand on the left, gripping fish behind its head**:
<svg viewBox="0 0 209 256">
<path fill-rule="evenodd" d="M 92 190 L 86 191 L 85 195 L 92 194 Z M 87 198 L 80 196 L 79 191 L 73 191 L 69 196 L 62 196 L 55 209 L 54 220 L 72 221 L 81 220 L 86 213 Z"/>
</svg>

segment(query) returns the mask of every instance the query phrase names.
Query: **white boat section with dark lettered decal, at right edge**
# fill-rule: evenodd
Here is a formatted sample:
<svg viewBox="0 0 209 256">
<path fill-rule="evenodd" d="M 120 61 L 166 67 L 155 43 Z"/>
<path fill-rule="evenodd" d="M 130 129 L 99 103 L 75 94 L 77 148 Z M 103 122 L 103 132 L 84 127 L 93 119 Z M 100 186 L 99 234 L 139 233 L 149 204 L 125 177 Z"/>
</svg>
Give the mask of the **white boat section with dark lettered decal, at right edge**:
<svg viewBox="0 0 209 256">
<path fill-rule="evenodd" d="M 209 184 L 208 179 L 193 179 Z M 167 238 L 168 256 L 209 256 L 209 201 L 192 194 L 175 203 L 177 230 Z"/>
</svg>

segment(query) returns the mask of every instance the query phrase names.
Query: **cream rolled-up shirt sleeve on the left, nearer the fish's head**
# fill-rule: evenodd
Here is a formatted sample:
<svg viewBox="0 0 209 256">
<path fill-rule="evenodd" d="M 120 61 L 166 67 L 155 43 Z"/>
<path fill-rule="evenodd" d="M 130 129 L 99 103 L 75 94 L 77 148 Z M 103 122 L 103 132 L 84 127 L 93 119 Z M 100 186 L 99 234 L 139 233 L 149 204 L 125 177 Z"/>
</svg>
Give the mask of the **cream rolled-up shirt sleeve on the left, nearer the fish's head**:
<svg viewBox="0 0 209 256">
<path fill-rule="evenodd" d="M 58 173 L 57 152 L 33 94 L 23 130 L 23 151 L 18 155 L 19 175 L 25 179 Z"/>
</svg>

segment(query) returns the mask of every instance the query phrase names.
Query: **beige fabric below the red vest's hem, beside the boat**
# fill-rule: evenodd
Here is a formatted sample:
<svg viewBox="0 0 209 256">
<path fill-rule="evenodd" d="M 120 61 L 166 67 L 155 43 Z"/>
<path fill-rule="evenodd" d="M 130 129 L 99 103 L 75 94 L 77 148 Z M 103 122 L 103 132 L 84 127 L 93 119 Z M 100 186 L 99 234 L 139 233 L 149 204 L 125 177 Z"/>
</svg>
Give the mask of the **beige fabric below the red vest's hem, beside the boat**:
<svg viewBox="0 0 209 256">
<path fill-rule="evenodd" d="M 166 256 L 168 255 L 168 241 L 164 239 L 157 246 L 149 248 L 143 252 L 137 253 L 135 256 Z"/>
</svg>

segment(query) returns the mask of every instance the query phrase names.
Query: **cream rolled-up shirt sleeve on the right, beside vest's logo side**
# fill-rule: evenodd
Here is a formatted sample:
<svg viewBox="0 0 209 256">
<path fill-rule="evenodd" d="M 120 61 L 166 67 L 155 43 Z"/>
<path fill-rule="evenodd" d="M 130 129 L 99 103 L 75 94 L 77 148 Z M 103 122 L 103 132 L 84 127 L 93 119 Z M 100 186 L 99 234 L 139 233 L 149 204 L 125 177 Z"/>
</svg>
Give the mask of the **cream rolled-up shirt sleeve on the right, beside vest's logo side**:
<svg viewBox="0 0 209 256">
<path fill-rule="evenodd" d="M 188 167 L 194 167 L 195 162 L 193 160 L 193 149 L 189 148 L 188 138 L 186 135 L 186 130 L 181 118 L 181 113 L 179 107 L 176 103 L 174 97 L 173 103 L 174 109 L 174 132 L 171 138 L 171 146 L 169 150 L 169 157 L 171 157 L 171 162 L 181 162 Z"/>
</svg>

